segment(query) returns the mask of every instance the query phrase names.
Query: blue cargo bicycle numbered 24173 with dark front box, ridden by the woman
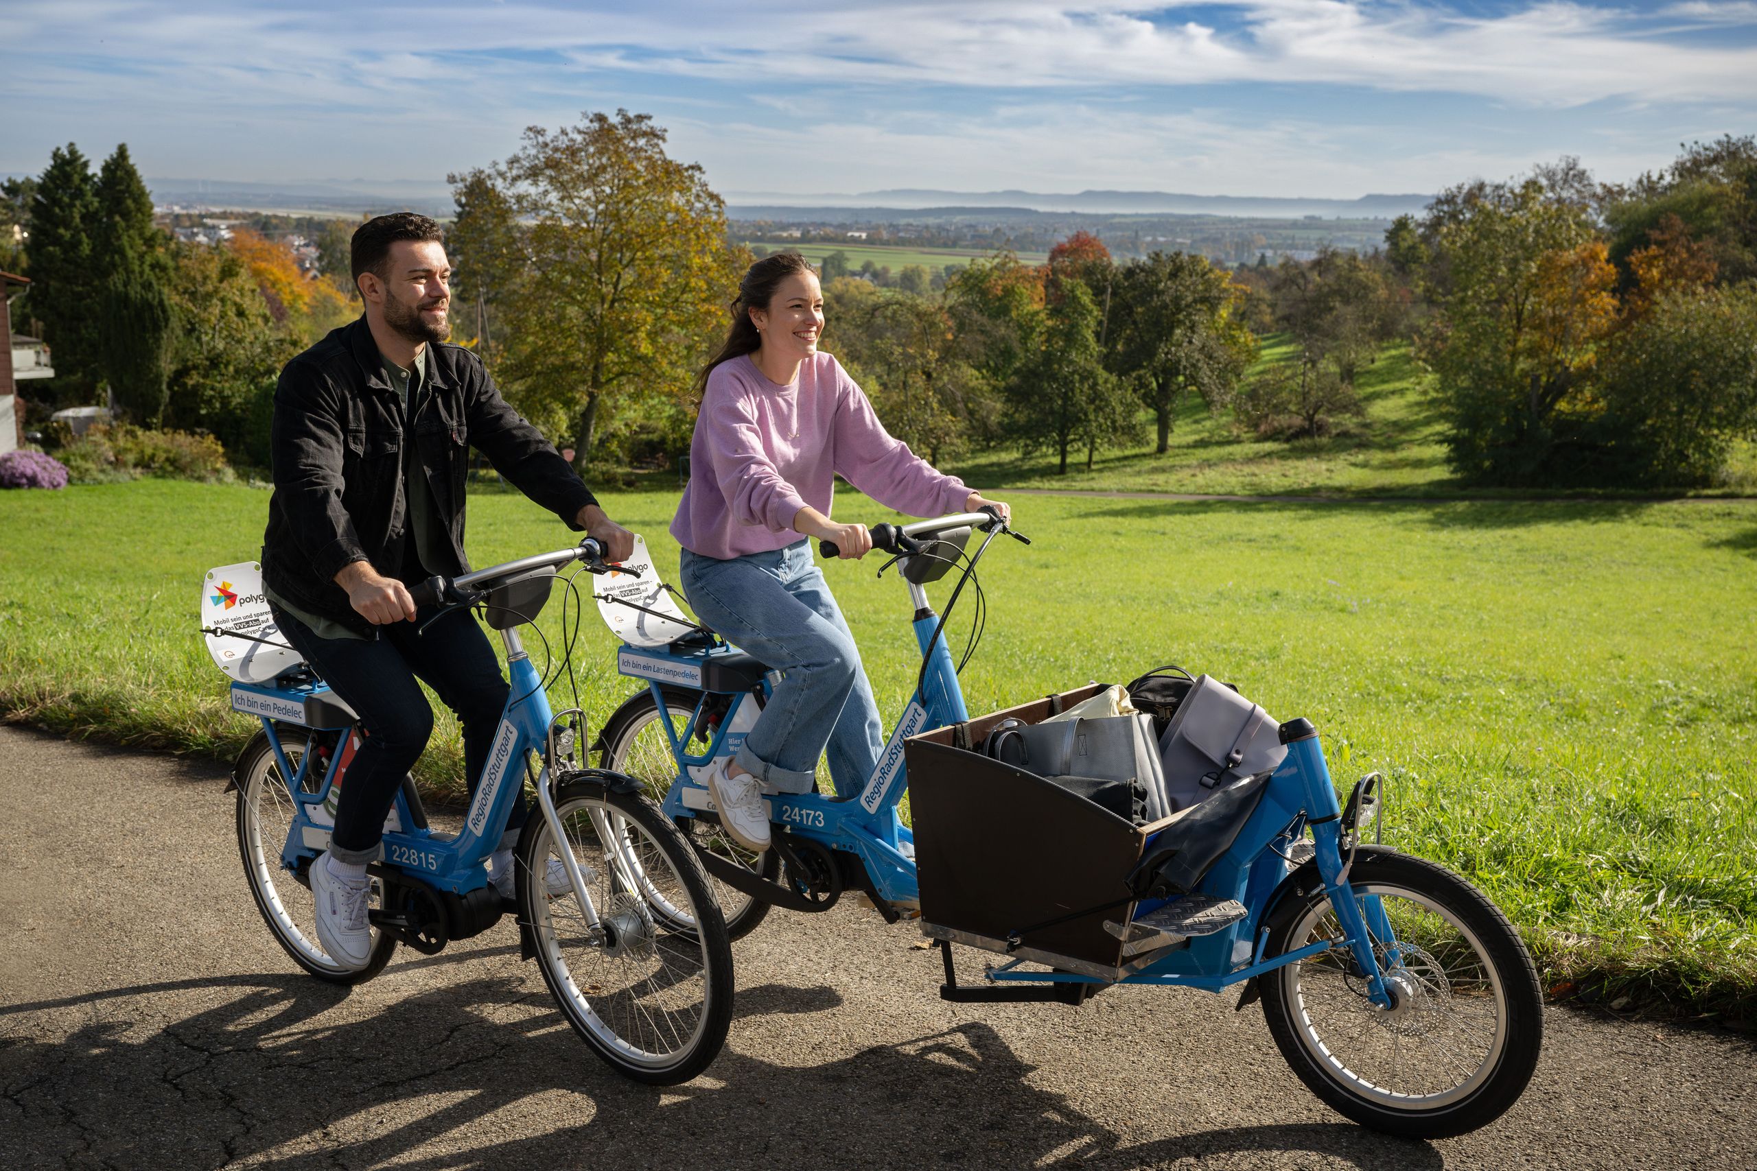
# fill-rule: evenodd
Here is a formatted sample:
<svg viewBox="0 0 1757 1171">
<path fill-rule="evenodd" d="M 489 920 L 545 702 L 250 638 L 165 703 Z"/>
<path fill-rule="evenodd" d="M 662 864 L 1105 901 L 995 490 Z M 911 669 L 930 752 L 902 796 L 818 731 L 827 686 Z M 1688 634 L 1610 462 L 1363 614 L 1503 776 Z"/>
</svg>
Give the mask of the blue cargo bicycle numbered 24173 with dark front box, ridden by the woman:
<svg viewBox="0 0 1757 1171">
<path fill-rule="evenodd" d="M 1081 1004 L 1116 985 L 1239 985 L 1239 1008 L 1262 1001 L 1293 1071 L 1342 1115 L 1411 1138 L 1500 1117 L 1543 1043 L 1530 955 L 1465 880 L 1363 841 L 1383 778 L 1337 801 L 1309 722 L 1279 725 L 1276 767 L 1149 823 L 986 751 L 991 734 L 1103 690 L 966 713 L 945 616 L 924 586 L 959 571 L 949 614 L 1001 534 L 991 513 L 873 528 L 908 588 L 915 690 L 857 794 L 766 797 L 773 846 L 761 855 L 719 829 L 701 778 L 752 727 L 768 669 L 706 630 L 618 650 L 618 671 L 647 686 L 604 725 L 599 760 L 647 785 L 691 834 L 729 934 L 770 908 L 824 911 L 859 890 L 887 922 L 921 920 L 947 1001 Z M 972 630 L 966 658 L 980 613 Z M 912 827 L 898 816 L 905 788 Z M 959 981 L 952 945 L 996 957 L 980 983 Z"/>
</svg>

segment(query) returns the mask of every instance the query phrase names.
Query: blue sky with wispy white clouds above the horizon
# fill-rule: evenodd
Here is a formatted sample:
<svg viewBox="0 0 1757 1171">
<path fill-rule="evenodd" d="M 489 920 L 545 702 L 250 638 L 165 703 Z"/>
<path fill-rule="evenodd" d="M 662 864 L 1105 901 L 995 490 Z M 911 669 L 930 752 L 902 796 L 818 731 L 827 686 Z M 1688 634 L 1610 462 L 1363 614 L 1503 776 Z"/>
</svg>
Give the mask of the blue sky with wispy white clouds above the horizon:
<svg viewBox="0 0 1757 1171">
<path fill-rule="evenodd" d="M 617 107 L 729 195 L 1627 179 L 1757 132 L 1757 0 L 0 4 L 0 172 L 441 188 Z"/>
</svg>

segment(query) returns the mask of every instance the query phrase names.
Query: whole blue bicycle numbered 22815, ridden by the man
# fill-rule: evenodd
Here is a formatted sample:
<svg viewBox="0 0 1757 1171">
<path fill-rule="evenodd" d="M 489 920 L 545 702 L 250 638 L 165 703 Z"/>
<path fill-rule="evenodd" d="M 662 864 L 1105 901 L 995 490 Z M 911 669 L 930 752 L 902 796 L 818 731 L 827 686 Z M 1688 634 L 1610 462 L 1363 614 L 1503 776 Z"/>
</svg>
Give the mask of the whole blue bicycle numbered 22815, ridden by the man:
<svg viewBox="0 0 1757 1171">
<path fill-rule="evenodd" d="M 524 957 L 538 960 L 587 1045 L 634 1080 L 673 1085 L 701 1073 L 726 1041 L 733 955 L 682 834 L 633 779 L 582 767 L 585 716 L 580 708 L 550 711 L 545 678 L 525 653 L 518 627 L 536 620 L 557 569 L 573 562 L 594 574 L 610 571 L 599 544 L 587 539 L 413 590 L 423 621 L 480 607 L 506 646 L 511 693 L 481 783 L 453 832 L 429 823 L 404 778 L 385 822 L 383 862 L 369 867 L 376 941 L 357 971 L 318 945 L 307 871 L 329 844 L 348 762 L 371 730 L 272 637 L 265 602 L 234 581 L 253 565 L 209 574 L 204 614 L 209 604 L 216 614 L 204 630 L 216 662 L 234 674 L 232 708 L 262 720 L 234 765 L 237 844 L 264 920 L 313 976 L 360 983 L 383 971 L 399 943 L 430 955 L 515 913 Z M 566 585 L 573 593 L 571 578 Z M 248 613 L 237 609 L 241 597 L 255 604 L 255 616 L 241 620 Z M 564 651 L 571 655 L 571 641 Z M 237 665 L 257 653 L 271 658 L 267 667 Z M 541 816 L 522 830 L 515 899 L 503 901 L 488 885 L 487 858 L 527 779 Z M 571 887 L 559 897 L 543 878 L 552 860 Z"/>
</svg>

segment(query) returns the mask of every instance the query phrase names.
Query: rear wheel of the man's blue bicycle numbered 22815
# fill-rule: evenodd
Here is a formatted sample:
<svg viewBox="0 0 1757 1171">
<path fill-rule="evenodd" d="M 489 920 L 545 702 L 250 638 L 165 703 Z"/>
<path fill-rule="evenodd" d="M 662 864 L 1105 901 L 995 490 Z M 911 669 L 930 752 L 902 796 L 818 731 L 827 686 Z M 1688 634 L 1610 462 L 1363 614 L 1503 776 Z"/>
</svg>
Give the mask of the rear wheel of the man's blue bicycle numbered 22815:
<svg viewBox="0 0 1757 1171">
<path fill-rule="evenodd" d="M 281 741 L 281 753 L 286 765 L 299 772 L 299 762 L 311 751 L 311 734 L 304 729 L 276 729 Z M 288 792 L 288 779 L 281 776 L 281 762 L 274 757 L 267 732 L 257 736 L 239 753 L 234 767 L 237 781 L 237 851 L 244 860 L 244 878 L 249 880 L 249 894 L 257 901 L 257 909 L 274 932 L 293 962 L 318 980 L 330 983 L 364 983 L 385 971 L 385 964 L 397 952 L 394 936 L 372 929 L 372 953 L 365 967 L 348 969 L 329 957 L 318 943 L 316 899 L 311 895 L 309 881 L 304 874 L 288 871 L 281 862 L 281 850 L 286 836 L 293 829 L 293 797 Z M 323 787 L 323 774 L 311 769 L 306 774 L 306 790 L 318 792 Z M 372 880 L 372 906 L 381 901 L 378 880 Z"/>
</svg>

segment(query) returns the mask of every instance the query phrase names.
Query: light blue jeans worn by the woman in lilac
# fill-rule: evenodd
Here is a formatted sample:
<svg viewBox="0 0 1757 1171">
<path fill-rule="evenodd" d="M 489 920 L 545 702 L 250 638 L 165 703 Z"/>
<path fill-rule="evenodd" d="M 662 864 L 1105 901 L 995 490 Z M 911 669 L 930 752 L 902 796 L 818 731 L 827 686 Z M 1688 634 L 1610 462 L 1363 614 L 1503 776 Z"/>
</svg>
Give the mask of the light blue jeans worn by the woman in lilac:
<svg viewBox="0 0 1757 1171">
<path fill-rule="evenodd" d="M 884 729 L 861 651 L 812 562 L 812 542 L 724 562 L 683 550 L 680 571 L 683 595 L 705 623 L 785 672 L 733 760 L 761 781 L 806 783 L 828 748 L 836 795 L 857 795 L 884 751 Z"/>
</svg>

